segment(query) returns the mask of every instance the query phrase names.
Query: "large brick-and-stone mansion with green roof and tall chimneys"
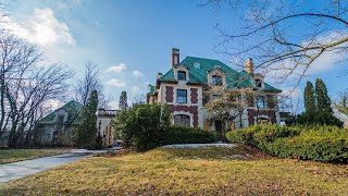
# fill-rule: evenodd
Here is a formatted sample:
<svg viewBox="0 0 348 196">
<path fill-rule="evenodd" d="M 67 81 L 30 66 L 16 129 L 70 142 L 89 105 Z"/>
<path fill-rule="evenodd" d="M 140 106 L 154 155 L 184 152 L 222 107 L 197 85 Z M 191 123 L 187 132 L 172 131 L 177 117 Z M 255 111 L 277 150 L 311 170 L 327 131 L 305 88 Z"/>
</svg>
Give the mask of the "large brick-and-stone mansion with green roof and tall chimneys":
<svg viewBox="0 0 348 196">
<path fill-rule="evenodd" d="M 260 122 L 279 124 L 276 101 L 277 94 L 282 90 L 269 85 L 263 78 L 261 74 L 253 73 L 252 59 L 245 62 L 245 70 L 237 72 L 213 59 L 186 57 L 179 61 L 179 50 L 174 48 L 172 68 L 165 74 L 158 73 L 156 85 L 149 85 L 147 103 L 166 103 L 173 113 L 174 124 L 210 131 L 219 131 L 222 126 L 238 130 Z M 233 122 L 222 124 L 219 120 L 209 118 L 204 110 L 203 90 L 211 86 L 250 88 L 261 90 L 263 96 L 246 103 L 243 113 Z"/>
</svg>

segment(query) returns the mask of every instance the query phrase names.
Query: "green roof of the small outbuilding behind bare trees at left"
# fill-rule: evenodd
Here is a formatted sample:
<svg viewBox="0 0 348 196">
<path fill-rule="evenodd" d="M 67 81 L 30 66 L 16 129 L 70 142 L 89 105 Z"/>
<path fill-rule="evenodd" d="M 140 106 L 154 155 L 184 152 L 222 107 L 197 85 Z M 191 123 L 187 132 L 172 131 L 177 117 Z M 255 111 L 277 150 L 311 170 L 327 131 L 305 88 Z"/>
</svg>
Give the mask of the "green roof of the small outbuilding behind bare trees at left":
<svg viewBox="0 0 348 196">
<path fill-rule="evenodd" d="M 78 117 L 79 111 L 82 110 L 82 108 L 83 108 L 83 106 L 80 103 L 78 103 L 75 100 L 71 100 L 66 105 L 58 108 L 57 110 L 54 110 L 50 114 L 48 114 L 45 118 L 42 118 L 38 123 L 39 124 L 55 124 L 57 113 L 60 110 L 64 110 L 65 112 L 67 112 L 67 119 L 64 121 L 64 123 L 67 123 L 69 121 L 73 120 L 73 124 L 77 124 L 78 123 L 78 118 L 77 117 Z"/>
</svg>

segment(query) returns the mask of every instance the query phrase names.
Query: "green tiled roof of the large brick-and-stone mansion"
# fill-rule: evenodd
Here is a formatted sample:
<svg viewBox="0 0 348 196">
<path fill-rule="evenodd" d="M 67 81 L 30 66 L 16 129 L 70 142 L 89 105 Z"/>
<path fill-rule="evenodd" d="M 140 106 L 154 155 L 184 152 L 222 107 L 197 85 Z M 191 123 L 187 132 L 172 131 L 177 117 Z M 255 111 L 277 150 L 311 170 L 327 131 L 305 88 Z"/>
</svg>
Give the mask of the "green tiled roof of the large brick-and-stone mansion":
<svg viewBox="0 0 348 196">
<path fill-rule="evenodd" d="M 251 84 L 251 75 L 246 71 L 237 72 L 224 64 L 219 60 L 206 59 L 206 58 L 196 58 L 196 57 L 187 57 L 185 58 L 181 64 L 184 64 L 188 68 L 189 81 L 187 83 L 194 84 L 207 84 L 208 72 L 211 72 L 215 69 L 220 69 L 226 74 L 226 83 L 227 88 L 243 88 L 243 87 L 252 87 Z M 195 65 L 199 64 L 199 68 Z M 166 72 L 162 77 L 158 79 L 159 82 L 177 82 L 174 77 L 174 70 L 171 69 Z M 282 91 L 273 86 L 264 83 L 264 90 L 274 90 Z"/>
</svg>

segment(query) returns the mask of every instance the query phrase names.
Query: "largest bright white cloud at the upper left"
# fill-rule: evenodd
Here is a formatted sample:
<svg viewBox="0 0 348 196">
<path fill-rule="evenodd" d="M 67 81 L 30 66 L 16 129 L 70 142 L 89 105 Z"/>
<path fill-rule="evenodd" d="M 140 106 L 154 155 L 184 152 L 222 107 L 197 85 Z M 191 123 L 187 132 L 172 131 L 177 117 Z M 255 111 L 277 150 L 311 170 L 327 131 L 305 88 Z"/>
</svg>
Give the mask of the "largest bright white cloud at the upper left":
<svg viewBox="0 0 348 196">
<path fill-rule="evenodd" d="M 66 23 L 55 19 L 53 11 L 48 8 L 35 9 L 34 15 L 21 23 L 15 22 L 8 16 L 4 16 L 3 20 L 4 23 L 1 23 L 2 28 L 40 46 L 76 44 Z"/>
</svg>

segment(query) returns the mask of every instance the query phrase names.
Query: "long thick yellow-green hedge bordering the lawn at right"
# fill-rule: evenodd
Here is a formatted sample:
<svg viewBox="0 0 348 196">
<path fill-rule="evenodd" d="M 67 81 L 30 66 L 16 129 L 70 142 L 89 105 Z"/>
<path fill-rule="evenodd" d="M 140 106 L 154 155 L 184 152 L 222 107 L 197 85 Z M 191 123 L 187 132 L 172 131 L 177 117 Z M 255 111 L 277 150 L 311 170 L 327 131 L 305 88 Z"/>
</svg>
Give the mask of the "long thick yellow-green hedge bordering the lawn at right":
<svg viewBox="0 0 348 196">
<path fill-rule="evenodd" d="M 348 132 L 337 126 L 256 125 L 226 136 L 281 158 L 348 162 Z"/>
</svg>

